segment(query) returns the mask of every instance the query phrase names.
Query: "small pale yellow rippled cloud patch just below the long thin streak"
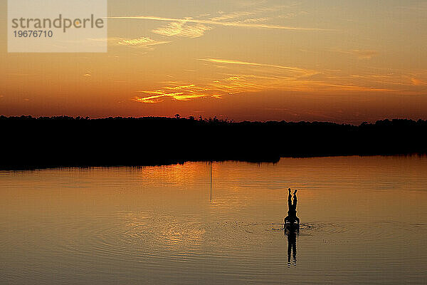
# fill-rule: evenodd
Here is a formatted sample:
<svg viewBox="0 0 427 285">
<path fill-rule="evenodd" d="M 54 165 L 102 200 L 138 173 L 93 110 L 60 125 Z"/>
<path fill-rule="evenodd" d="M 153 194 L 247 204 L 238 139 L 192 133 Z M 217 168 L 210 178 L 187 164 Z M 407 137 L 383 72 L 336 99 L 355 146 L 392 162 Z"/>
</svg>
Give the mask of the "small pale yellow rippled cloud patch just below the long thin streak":
<svg viewBox="0 0 427 285">
<path fill-rule="evenodd" d="M 199 38 L 203 36 L 205 31 L 209 31 L 211 27 L 204 24 L 186 25 L 186 21 L 172 22 L 169 25 L 153 30 L 153 33 L 158 33 L 163 36 L 184 36 L 186 38 Z"/>
</svg>

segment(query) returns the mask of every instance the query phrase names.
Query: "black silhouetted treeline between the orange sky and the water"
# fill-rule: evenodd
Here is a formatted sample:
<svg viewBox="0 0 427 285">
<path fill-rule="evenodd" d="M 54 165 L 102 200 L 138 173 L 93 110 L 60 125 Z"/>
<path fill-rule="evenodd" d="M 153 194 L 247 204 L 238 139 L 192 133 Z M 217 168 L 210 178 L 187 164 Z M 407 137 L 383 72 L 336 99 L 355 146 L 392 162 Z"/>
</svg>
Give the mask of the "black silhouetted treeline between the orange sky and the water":
<svg viewBox="0 0 427 285">
<path fill-rule="evenodd" d="M 0 116 L 0 169 L 427 152 L 426 120 L 362 125 L 180 118 Z"/>
</svg>

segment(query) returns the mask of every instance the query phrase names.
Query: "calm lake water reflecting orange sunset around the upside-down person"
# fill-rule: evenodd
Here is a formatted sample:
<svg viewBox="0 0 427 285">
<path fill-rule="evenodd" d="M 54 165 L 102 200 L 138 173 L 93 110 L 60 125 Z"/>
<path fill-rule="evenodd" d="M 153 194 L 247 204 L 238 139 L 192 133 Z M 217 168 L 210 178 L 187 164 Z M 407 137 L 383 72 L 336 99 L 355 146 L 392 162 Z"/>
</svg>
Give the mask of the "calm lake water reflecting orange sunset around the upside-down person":
<svg viewBox="0 0 427 285">
<path fill-rule="evenodd" d="M 426 284 L 427 157 L 212 173 L 211 200 L 204 162 L 0 172 L 0 284 Z"/>
</svg>

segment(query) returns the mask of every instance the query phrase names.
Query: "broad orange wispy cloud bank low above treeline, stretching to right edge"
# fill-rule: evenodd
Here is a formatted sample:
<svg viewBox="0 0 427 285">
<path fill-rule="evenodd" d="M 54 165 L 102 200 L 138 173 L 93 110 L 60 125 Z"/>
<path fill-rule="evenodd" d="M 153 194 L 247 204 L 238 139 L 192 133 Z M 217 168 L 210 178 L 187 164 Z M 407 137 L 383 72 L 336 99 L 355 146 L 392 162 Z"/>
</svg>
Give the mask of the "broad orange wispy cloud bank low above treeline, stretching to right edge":
<svg viewBox="0 0 427 285">
<path fill-rule="evenodd" d="M 363 53 L 364 55 L 364 53 Z M 354 93 L 404 93 L 418 94 L 425 86 L 425 73 L 395 74 L 343 74 L 339 70 L 314 71 L 295 66 L 256 63 L 223 58 L 197 58 L 198 61 L 227 66 L 218 69 L 221 73 L 209 81 L 181 83 L 166 81 L 156 90 L 139 90 L 144 95 L 135 97 L 139 103 L 160 103 L 165 98 L 172 100 L 194 100 L 197 98 L 221 99 L 229 95 L 270 91 L 302 92 L 306 94 L 354 94 Z M 246 68 L 253 67 L 253 68 Z M 229 73 L 222 73 L 227 70 Z M 363 78 L 363 80 L 361 80 Z M 399 86 L 406 86 L 402 89 Z M 412 89 L 410 89 L 412 87 Z M 417 89 L 418 88 L 418 89 Z"/>
</svg>

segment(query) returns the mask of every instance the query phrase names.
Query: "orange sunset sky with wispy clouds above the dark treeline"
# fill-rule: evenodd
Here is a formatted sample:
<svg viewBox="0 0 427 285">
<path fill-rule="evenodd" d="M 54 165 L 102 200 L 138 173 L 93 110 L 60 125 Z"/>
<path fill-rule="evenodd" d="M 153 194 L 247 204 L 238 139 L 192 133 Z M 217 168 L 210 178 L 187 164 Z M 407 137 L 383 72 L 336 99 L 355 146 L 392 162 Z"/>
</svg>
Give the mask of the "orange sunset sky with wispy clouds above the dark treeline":
<svg viewBox="0 0 427 285">
<path fill-rule="evenodd" d="M 0 5 L 0 115 L 427 119 L 427 1 L 109 0 L 108 53 L 7 53 Z"/>
</svg>

